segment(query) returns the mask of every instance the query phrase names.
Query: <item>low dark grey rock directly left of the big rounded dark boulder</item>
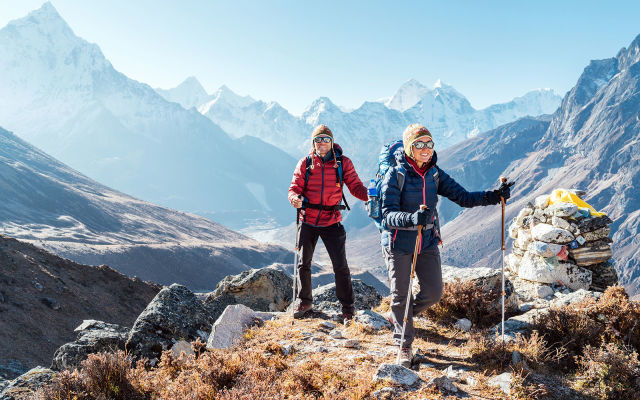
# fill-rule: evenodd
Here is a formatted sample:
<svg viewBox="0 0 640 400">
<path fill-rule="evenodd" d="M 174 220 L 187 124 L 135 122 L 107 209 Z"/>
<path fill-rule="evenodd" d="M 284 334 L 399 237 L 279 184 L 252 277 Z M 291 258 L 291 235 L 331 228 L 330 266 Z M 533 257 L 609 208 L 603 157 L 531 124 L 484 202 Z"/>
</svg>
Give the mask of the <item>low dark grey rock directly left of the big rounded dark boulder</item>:
<svg viewBox="0 0 640 400">
<path fill-rule="evenodd" d="M 78 338 L 56 350 L 52 370 L 76 368 L 91 353 L 124 350 L 129 335 L 129 328 L 93 319 L 84 320 L 74 331 Z"/>
</svg>

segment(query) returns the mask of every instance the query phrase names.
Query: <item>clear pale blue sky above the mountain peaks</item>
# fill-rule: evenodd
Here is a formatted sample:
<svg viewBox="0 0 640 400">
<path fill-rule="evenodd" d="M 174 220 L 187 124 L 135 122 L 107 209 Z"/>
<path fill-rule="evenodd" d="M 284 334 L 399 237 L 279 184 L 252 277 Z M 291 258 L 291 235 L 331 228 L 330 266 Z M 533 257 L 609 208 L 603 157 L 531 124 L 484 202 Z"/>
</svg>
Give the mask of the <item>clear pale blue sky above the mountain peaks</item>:
<svg viewBox="0 0 640 400">
<path fill-rule="evenodd" d="M 42 0 L 0 0 L 0 26 Z M 398 4 L 396 4 L 398 3 Z M 453 85 L 476 108 L 536 88 L 563 95 L 589 60 L 640 34 L 638 1 L 53 0 L 116 69 L 153 87 L 355 108 L 406 80 Z"/>
</svg>

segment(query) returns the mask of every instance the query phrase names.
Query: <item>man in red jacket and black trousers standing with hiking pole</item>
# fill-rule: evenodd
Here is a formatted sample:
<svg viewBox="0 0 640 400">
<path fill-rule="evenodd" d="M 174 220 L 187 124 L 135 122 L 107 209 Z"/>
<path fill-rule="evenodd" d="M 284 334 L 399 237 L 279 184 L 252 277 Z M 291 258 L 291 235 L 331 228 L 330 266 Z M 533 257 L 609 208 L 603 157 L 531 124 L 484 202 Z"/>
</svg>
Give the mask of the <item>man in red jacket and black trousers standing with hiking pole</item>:
<svg viewBox="0 0 640 400">
<path fill-rule="evenodd" d="M 341 168 L 340 168 L 341 167 Z M 342 176 L 340 176 L 342 170 Z M 311 134 L 311 152 L 298 162 L 291 186 L 289 201 L 300 213 L 299 247 L 302 250 L 297 266 L 300 277 L 298 304 L 293 316 L 302 318 L 313 309 L 311 297 L 311 258 L 322 239 L 331 258 L 336 279 L 336 295 L 342 304 L 342 318 L 353 318 L 354 296 L 351 273 L 347 264 L 345 240 L 347 234 L 342 226 L 340 205 L 343 185 L 362 201 L 367 200 L 367 188 L 362 184 L 351 160 L 342 155 L 342 149 L 333 143 L 333 133 L 326 125 L 318 125 Z"/>
</svg>

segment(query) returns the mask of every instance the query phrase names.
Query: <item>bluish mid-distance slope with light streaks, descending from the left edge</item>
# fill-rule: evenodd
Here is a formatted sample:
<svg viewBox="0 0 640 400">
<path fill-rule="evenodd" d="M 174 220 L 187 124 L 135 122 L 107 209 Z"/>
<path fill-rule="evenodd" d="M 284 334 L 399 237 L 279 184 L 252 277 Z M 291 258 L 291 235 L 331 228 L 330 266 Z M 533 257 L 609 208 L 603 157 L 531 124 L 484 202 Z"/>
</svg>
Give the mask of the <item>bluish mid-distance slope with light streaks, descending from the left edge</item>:
<svg viewBox="0 0 640 400">
<path fill-rule="evenodd" d="M 2 128 L 0 232 L 79 263 L 192 289 L 293 259 L 206 218 L 101 185 Z"/>
</svg>

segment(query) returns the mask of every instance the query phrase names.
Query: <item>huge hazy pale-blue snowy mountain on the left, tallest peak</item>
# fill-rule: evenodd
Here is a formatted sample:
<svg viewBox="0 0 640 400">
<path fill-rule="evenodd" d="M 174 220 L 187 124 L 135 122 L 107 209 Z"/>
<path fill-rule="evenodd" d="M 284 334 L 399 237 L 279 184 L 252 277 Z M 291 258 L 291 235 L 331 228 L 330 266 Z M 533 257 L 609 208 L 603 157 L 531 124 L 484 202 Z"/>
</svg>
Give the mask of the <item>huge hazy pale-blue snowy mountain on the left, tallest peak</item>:
<svg viewBox="0 0 640 400">
<path fill-rule="evenodd" d="M 0 30 L 0 125 L 110 187 L 244 226 L 290 219 L 295 160 L 127 78 L 50 3 Z M 269 165 L 269 173 L 262 173 Z"/>
</svg>

